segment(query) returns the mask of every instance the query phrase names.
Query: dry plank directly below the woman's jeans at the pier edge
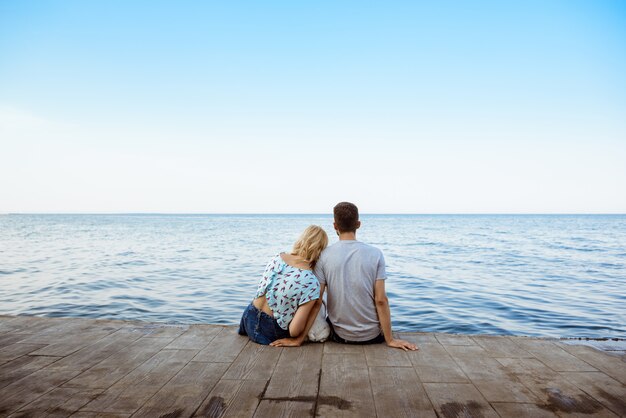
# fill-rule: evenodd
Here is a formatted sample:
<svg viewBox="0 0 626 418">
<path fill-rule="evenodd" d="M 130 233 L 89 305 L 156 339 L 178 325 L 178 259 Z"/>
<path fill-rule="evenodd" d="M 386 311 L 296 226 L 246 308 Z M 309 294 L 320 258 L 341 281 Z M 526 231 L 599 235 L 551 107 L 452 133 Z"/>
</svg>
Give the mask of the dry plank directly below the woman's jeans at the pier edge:
<svg viewBox="0 0 626 418">
<path fill-rule="evenodd" d="M 250 343 L 230 365 L 224 379 L 269 380 L 283 348 Z"/>
</svg>

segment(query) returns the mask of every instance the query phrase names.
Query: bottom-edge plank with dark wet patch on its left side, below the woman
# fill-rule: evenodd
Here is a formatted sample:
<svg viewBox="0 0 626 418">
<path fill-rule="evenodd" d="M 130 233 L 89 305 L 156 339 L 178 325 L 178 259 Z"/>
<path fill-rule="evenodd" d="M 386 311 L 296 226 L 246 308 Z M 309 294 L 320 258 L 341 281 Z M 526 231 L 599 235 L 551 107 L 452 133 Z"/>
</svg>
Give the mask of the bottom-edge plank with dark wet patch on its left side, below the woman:
<svg viewBox="0 0 626 418">
<path fill-rule="evenodd" d="M 266 380 L 222 379 L 217 382 L 194 416 L 252 417 L 266 386 Z"/>
</svg>

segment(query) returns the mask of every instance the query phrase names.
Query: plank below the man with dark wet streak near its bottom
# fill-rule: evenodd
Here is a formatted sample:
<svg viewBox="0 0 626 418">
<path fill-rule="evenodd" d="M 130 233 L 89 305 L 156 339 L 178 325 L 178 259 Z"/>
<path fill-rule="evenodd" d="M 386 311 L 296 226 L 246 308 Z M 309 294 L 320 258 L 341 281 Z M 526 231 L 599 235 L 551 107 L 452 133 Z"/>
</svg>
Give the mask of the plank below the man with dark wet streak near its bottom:
<svg viewBox="0 0 626 418">
<path fill-rule="evenodd" d="M 317 416 L 376 415 L 365 354 L 324 354 Z"/>
</svg>

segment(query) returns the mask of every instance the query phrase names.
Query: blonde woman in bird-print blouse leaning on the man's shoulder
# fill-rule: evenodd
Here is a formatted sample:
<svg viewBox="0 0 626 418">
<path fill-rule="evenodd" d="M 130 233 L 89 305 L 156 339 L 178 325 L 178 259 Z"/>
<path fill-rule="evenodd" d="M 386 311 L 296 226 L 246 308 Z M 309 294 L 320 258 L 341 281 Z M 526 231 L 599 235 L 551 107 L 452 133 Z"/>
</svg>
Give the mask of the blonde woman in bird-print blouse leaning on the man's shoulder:
<svg viewBox="0 0 626 418">
<path fill-rule="evenodd" d="M 291 253 L 280 253 L 270 260 L 256 298 L 243 312 L 239 334 L 268 345 L 304 332 L 313 305 L 320 297 L 320 284 L 313 268 L 326 245 L 326 232 L 311 225 L 296 241 Z"/>
</svg>

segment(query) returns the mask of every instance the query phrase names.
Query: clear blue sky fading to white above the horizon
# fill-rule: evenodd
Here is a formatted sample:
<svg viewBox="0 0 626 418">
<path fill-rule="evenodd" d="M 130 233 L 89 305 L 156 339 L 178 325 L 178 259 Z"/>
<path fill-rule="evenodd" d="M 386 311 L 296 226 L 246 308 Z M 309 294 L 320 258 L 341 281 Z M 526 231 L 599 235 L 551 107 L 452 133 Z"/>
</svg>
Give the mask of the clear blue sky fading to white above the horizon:
<svg viewBox="0 0 626 418">
<path fill-rule="evenodd" d="M 626 212 L 626 2 L 0 1 L 0 212 Z"/>
</svg>

